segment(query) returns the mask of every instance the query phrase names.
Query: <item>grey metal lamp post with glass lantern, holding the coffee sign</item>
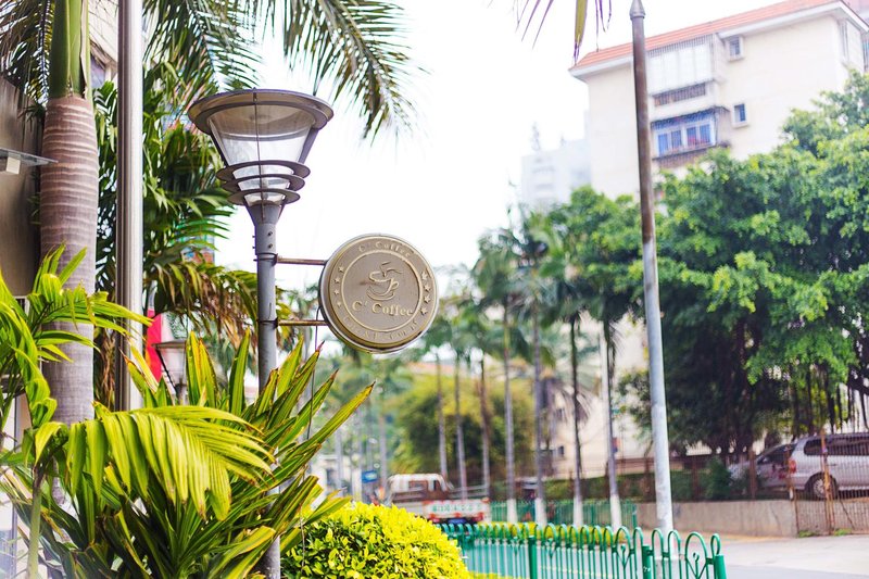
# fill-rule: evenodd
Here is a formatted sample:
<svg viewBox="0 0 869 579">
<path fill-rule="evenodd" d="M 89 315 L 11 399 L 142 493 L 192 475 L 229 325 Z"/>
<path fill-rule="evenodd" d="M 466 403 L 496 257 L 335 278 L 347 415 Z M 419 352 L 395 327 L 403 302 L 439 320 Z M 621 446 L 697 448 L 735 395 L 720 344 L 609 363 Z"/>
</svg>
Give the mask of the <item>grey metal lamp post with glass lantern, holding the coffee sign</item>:
<svg viewBox="0 0 869 579">
<path fill-rule="evenodd" d="M 212 137 L 227 165 L 217 177 L 230 193 L 229 201 L 244 205 L 253 221 L 262 392 L 277 367 L 277 223 L 284 206 L 299 200 L 298 191 L 311 173 L 303 163 L 332 110 L 308 95 L 254 89 L 206 97 L 190 108 L 189 115 Z M 280 577 L 279 538 L 263 557 L 260 570 L 268 579 Z"/>
</svg>

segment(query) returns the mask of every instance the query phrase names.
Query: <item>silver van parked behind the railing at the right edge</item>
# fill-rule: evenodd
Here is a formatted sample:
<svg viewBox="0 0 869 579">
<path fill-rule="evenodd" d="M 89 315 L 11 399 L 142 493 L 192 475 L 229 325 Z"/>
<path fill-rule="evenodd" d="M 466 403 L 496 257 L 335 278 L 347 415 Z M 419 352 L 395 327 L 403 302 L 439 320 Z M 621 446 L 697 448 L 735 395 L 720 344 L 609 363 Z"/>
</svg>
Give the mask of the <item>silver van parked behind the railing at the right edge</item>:
<svg viewBox="0 0 869 579">
<path fill-rule="evenodd" d="M 786 487 L 790 476 L 794 489 L 823 499 L 824 450 L 832 496 L 836 496 L 839 491 L 869 490 L 869 432 L 830 435 L 823 445 L 819 436 L 796 440 L 788 461 L 786 476 L 777 479 L 777 484 Z"/>
</svg>

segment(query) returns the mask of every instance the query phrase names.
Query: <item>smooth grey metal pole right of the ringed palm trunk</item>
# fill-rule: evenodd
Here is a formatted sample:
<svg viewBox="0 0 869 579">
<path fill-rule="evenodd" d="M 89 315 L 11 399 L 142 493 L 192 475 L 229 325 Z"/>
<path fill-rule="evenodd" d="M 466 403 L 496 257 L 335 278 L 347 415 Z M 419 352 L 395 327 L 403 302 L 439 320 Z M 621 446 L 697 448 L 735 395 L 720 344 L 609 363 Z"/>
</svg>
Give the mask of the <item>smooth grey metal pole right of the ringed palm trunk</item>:
<svg viewBox="0 0 869 579">
<path fill-rule="evenodd" d="M 117 216 L 115 222 L 117 303 L 136 314 L 142 309 L 142 2 L 118 3 Z M 125 356 L 142 350 L 142 328 L 124 322 L 128 338 L 117 335 L 115 405 L 138 408 Z"/>
</svg>

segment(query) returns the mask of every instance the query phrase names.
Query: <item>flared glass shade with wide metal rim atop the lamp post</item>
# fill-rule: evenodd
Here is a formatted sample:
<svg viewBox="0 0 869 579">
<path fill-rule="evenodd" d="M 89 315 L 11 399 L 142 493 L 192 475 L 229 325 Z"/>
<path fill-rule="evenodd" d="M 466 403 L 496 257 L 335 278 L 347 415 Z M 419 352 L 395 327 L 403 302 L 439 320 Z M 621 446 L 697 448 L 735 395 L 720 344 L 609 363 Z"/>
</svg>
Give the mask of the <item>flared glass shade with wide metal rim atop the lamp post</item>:
<svg viewBox="0 0 869 579">
<path fill-rule="evenodd" d="M 235 178 L 256 174 L 263 161 L 304 163 L 317 131 L 331 117 L 326 102 L 289 90 L 223 92 L 190 108 L 190 119 L 211 135 L 227 165 L 255 163 Z"/>
</svg>

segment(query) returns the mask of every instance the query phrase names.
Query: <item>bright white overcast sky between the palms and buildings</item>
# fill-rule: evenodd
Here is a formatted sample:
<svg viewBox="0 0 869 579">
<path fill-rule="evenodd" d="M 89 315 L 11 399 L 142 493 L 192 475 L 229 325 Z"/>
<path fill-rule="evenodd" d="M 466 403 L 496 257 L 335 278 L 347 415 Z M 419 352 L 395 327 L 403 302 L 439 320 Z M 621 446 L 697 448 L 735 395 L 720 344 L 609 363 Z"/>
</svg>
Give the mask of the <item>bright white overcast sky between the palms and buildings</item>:
<svg viewBox="0 0 869 579">
<path fill-rule="evenodd" d="M 513 0 L 405 0 L 406 45 L 425 73 L 413 75 L 414 126 L 398 139 L 361 140 L 345 103 L 320 131 L 306 164 L 301 200 L 278 224 L 282 256 L 327 259 L 363 234 L 389 234 L 416 247 L 432 266 L 471 265 L 477 239 L 507 224 L 516 203 L 532 127 L 543 149 L 583 137 L 584 85 L 572 78 L 575 2 L 555 0 L 537 42 L 522 38 Z M 606 5 L 607 2 L 604 2 Z M 630 0 L 613 0 L 606 30 L 594 16 L 581 54 L 629 42 Z M 772 3 L 770 0 L 646 0 L 646 36 Z M 263 88 L 310 92 L 266 41 Z M 253 269 L 253 227 L 245 212 L 230 222 L 217 263 Z M 285 288 L 314 284 L 319 269 L 280 266 Z"/>
</svg>

